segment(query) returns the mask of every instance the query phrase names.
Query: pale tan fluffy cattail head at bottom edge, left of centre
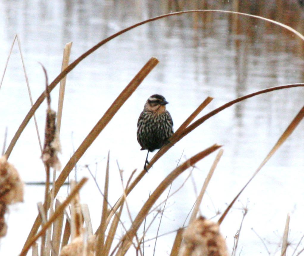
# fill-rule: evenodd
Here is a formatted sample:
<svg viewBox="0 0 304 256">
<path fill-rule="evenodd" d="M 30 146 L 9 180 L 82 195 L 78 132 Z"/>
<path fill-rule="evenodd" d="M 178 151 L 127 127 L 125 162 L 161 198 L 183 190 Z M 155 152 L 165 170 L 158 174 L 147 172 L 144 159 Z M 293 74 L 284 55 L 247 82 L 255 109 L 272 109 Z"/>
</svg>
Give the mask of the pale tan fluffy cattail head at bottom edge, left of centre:
<svg viewBox="0 0 304 256">
<path fill-rule="evenodd" d="M 86 244 L 86 256 L 95 256 L 95 240 L 96 236 L 91 235 L 88 237 Z M 83 256 L 83 237 L 76 237 L 71 243 L 67 244 L 60 251 L 59 256 Z"/>
</svg>

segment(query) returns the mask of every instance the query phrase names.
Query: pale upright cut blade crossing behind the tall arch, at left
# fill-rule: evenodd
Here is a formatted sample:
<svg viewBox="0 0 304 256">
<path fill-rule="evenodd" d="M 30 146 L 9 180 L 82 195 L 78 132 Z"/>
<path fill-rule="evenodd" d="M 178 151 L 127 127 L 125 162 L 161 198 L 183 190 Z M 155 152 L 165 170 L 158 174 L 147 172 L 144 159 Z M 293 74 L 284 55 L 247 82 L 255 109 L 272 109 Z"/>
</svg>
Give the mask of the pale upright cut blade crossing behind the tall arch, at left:
<svg viewBox="0 0 304 256">
<path fill-rule="evenodd" d="M 61 71 L 65 70 L 67 68 L 67 66 L 69 65 L 70 54 L 71 54 L 71 47 L 72 47 L 72 42 L 67 43 L 65 45 L 65 47 L 64 47 Z M 65 91 L 65 83 L 66 83 L 66 81 L 67 81 L 67 77 L 65 76 L 60 81 L 60 87 L 59 87 L 57 123 L 56 123 L 56 127 L 58 129 L 58 133 L 60 133 L 61 117 L 62 117 L 62 109 L 63 109 L 63 100 L 64 100 L 64 91 Z"/>
</svg>

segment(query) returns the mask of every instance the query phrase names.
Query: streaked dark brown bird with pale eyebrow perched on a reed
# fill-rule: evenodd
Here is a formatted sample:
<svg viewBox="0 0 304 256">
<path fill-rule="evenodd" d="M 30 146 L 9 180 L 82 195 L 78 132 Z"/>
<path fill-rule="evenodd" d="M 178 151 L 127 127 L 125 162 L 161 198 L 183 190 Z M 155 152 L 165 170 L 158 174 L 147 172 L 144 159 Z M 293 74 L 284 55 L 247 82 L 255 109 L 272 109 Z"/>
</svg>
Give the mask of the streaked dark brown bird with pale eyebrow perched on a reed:
<svg viewBox="0 0 304 256">
<path fill-rule="evenodd" d="M 173 134 L 173 121 L 166 110 L 168 103 L 163 96 L 154 94 L 148 98 L 138 118 L 137 141 L 141 146 L 140 150 L 148 149 L 145 170 L 147 170 L 146 165 L 149 164 L 149 152 L 161 148 Z"/>
</svg>

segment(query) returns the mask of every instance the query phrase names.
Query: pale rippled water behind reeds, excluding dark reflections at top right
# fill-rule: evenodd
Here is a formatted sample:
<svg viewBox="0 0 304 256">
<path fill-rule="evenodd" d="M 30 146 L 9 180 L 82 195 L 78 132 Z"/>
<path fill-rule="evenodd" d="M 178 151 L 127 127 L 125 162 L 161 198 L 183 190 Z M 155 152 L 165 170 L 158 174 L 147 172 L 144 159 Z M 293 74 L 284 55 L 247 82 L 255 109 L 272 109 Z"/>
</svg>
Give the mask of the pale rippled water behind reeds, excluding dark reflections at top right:
<svg viewBox="0 0 304 256">
<path fill-rule="evenodd" d="M 12 40 L 18 34 L 34 101 L 44 90 L 44 76 L 38 61 L 46 67 L 49 81 L 52 81 L 60 72 L 65 43 L 73 41 L 71 60 L 74 60 L 120 29 L 164 13 L 157 4 L 143 2 L 134 7 L 128 1 L 0 1 L 0 10 L 0 70 L 4 70 Z M 251 29 L 257 30 L 253 39 L 245 35 L 236 37 L 229 33 L 227 15 L 213 17 L 206 31 L 192 29 L 191 15 L 138 27 L 102 46 L 68 75 L 60 132 L 63 166 L 73 152 L 73 145 L 74 148 L 80 145 L 146 61 L 151 56 L 160 60 L 78 163 L 77 176 L 80 178 L 89 176 L 84 168 L 86 164 L 95 172 L 95 162 L 98 162 L 97 180 L 103 187 L 106 156 L 110 150 L 112 204 L 122 193 L 116 160 L 124 169 L 125 183 L 134 169 L 143 166 L 146 152 L 140 151 L 136 141 L 136 123 L 150 95 L 162 94 L 170 102 L 168 110 L 176 130 L 207 96 L 214 97 L 214 100 L 202 114 L 257 90 L 303 82 L 303 60 L 295 54 L 297 44 L 294 37 L 278 36 L 269 31 L 263 34 L 260 23 L 257 23 L 261 25 L 260 30 L 252 24 Z M 250 22 L 246 25 L 250 27 Z M 4 135 L 7 126 L 8 142 L 30 108 L 16 46 L 0 91 L 0 134 Z M 56 109 L 58 89 L 51 95 L 52 106 Z M 293 88 L 251 98 L 210 118 L 164 155 L 130 194 L 128 203 L 133 219 L 149 192 L 175 168 L 181 155 L 181 161 L 184 161 L 214 143 L 224 145 L 224 155 L 209 184 L 209 197 L 205 196 L 201 211 L 207 217 L 213 217 L 216 210 L 223 212 L 226 203 L 230 203 L 244 186 L 302 104 L 303 89 Z M 45 109 L 46 104 L 43 103 L 36 112 L 40 135 L 44 129 Z M 224 220 L 222 232 L 227 237 L 230 251 L 242 216 L 240 208 L 247 200 L 250 201 L 250 211 L 243 223 L 237 254 L 240 251 L 240 255 L 267 253 L 251 228 L 266 239 L 268 249 L 275 254 L 288 212 L 291 213 L 290 240 L 295 244 L 300 240 L 304 224 L 302 131 L 303 124 L 300 123 Z M 40 148 L 31 120 L 9 161 L 15 164 L 25 181 L 41 181 L 45 177 L 39 157 Z M 199 190 L 214 157 L 215 154 L 200 161 L 193 171 L 194 181 L 189 179 L 169 199 L 160 234 L 183 225 L 195 200 L 193 182 Z M 183 174 L 174 182 L 171 191 L 177 189 L 186 176 Z M 66 190 L 60 195 L 65 196 Z M 1 240 L 1 255 L 20 252 L 36 218 L 36 203 L 42 200 L 43 187 L 26 187 L 25 203 L 12 207 L 7 216 L 9 230 L 7 237 Z M 81 200 L 89 204 L 95 231 L 100 221 L 102 197 L 92 180 L 81 191 Z M 127 226 L 127 215 L 125 221 Z M 155 236 L 156 229 L 157 224 L 151 228 L 147 239 Z M 158 240 L 158 254 L 170 253 L 174 235 Z M 152 255 L 153 247 L 153 241 L 147 242 L 145 252 Z M 288 252 L 292 254 L 292 250 Z"/>
</svg>

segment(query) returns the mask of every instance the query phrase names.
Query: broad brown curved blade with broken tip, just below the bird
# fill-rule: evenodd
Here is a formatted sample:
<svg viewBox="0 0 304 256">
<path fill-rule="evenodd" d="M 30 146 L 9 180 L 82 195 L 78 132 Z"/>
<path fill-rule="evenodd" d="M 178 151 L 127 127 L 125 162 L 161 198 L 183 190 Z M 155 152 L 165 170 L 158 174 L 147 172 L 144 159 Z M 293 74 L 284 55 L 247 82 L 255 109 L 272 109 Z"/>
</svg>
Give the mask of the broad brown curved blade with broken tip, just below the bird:
<svg viewBox="0 0 304 256">
<path fill-rule="evenodd" d="M 141 208 L 140 212 L 137 214 L 136 218 L 134 219 L 132 226 L 128 230 L 128 232 L 124 235 L 122 239 L 122 244 L 119 247 L 119 250 L 116 255 L 125 255 L 126 251 L 130 248 L 132 244 L 133 237 L 136 235 L 136 232 L 140 225 L 142 224 L 143 220 L 147 216 L 150 208 L 159 198 L 159 196 L 164 192 L 164 190 L 176 179 L 182 172 L 188 169 L 190 166 L 193 166 L 196 162 L 204 158 L 205 156 L 211 154 L 216 149 L 220 148 L 219 145 L 213 145 L 209 148 L 206 148 L 204 151 L 199 152 L 198 154 L 194 155 L 192 158 L 185 161 L 183 164 L 178 166 L 174 169 L 154 190 L 151 196 L 148 198 L 146 203 Z"/>
</svg>

